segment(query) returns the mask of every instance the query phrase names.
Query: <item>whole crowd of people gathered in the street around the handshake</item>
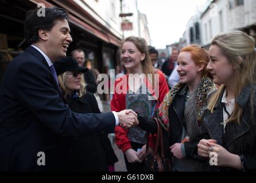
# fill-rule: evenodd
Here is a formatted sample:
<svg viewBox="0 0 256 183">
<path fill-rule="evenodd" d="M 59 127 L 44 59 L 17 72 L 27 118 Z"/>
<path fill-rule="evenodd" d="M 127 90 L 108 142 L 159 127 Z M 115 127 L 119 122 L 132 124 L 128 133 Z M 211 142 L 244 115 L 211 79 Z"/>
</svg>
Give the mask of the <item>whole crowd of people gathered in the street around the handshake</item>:
<svg viewBox="0 0 256 183">
<path fill-rule="evenodd" d="M 36 13 L 29 11 L 24 26 L 30 46 L 0 86 L 0 171 L 112 172 L 118 158 L 108 133 L 115 133 L 127 171 L 141 172 L 146 150 L 156 147 L 155 119 L 172 171 L 256 170 L 253 37 L 223 33 L 209 50 L 174 47 L 164 62 L 145 39 L 127 37 L 120 45 L 126 73 L 115 73 L 111 112 L 101 113 L 99 71 L 82 49 L 66 55 L 67 11 Z M 38 164 L 41 152 L 45 164 Z"/>
</svg>

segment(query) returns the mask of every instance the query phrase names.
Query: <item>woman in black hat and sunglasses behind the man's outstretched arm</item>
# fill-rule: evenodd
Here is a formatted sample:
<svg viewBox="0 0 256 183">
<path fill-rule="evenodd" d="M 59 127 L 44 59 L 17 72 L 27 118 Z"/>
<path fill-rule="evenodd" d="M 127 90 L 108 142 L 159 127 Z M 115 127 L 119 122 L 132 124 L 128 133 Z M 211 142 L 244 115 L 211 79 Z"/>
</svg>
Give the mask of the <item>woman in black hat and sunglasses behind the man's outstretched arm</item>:
<svg viewBox="0 0 256 183">
<path fill-rule="evenodd" d="M 69 108 L 76 113 L 100 113 L 94 94 L 86 92 L 80 67 L 75 59 L 66 57 L 54 63 L 60 89 Z M 90 136 L 65 137 L 60 143 L 61 170 L 109 171 L 118 161 L 107 134 L 99 132 Z"/>
</svg>

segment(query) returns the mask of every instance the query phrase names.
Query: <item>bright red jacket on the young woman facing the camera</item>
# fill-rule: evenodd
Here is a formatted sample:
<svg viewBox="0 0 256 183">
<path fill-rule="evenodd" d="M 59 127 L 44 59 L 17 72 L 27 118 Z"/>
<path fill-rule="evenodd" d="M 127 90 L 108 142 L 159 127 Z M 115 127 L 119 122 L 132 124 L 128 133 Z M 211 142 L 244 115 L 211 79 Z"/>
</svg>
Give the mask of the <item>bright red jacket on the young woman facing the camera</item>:
<svg viewBox="0 0 256 183">
<path fill-rule="evenodd" d="M 165 95 L 169 92 L 169 87 L 167 85 L 165 76 L 162 73 L 162 71 L 157 70 L 156 73 L 159 74 L 159 96 L 157 99 L 157 107 L 158 107 L 161 104 L 161 102 L 164 100 Z M 156 98 L 156 94 L 152 89 L 152 85 L 146 80 L 146 78 L 144 81 L 146 82 L 146 85 L 148 86 L 149 91 L 152 93 L 152 96 Z M 123 88 L 122 86 L 126 88 Z M 117 89 L 119 88 L 124 90 L 125 93 L 118 94 Z M 111 111 L 119 112 L 125 109 L 126 93 L 128 90 L 129 90 L 128 74 L 126 74 L 115 81 L 115 91 L 114 91 L 113 99 L 111 100 L 111 103 L 110 103 Z M 127 137 L 127 132 L 128 132 L 128 129 L 123 129 L 121 126 L 115 127 L 115 142 L 117 143 L 118 148 L 121 149 L 123 152 L 125 152 L 128 149 L 131 149 L 131 143 L 129 141 L 129 138 Z"/>
</svg>

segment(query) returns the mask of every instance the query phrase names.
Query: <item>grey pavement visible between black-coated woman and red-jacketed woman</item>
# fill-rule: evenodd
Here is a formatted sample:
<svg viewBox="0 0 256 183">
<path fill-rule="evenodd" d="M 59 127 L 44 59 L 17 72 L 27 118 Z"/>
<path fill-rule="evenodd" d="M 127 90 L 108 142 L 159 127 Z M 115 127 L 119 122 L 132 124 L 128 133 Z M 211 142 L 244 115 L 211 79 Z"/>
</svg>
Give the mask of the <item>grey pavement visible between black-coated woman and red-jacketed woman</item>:
<svg viewBox="0 0 256 183">
<path fill-rule="evenodd" d="M 103 111 L 104 112 L 110 112 L 110 105 L 109 104 L 103 104 Z M 110 138 L 111 145 L 114 149 L 115 155 L 117 155 L 118 162 L 115 163 L 115 171 L 116 172 L 127 172 L 126 166 L 125 166 L 125 159 L 123 158 L 123 152 L 117 147 L 117 144 L 115 144 L 115 134 L 111 133 L 108 134 L 108 138 Z"/>
</svg>

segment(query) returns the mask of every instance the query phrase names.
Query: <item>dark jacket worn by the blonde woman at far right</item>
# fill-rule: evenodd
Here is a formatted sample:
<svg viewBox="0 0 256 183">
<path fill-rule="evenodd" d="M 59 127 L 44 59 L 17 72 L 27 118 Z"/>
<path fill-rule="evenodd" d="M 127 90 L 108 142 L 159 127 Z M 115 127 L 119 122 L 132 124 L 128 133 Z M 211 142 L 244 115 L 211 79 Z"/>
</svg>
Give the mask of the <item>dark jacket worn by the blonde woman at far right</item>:
<svg viewBox="0 0 256 183">
<path fill-rule="evenodd" d="M 223 91 L 224 92 L 224 91 Z M 240 124 L 230 122 L 223 129 L 223 103 L 220 95 L 216 102 L 214 113 L 205 110 L 203 115 L 202 137 L 204 139 L 214 139 L 223 146 L 228 152 L 242 157 L 244 170 L 256 170 L 256 86 L 253 87 L 254 93 L 254 111 L 250 108 L 251 87 L 245 87 L 241 94 L 235 99 L 235 102 L 243 108 Z M 253 118 L 251 114 L 253 113 Z M 209 160 L 205 162 L 204 170 L 226 171 L 230 168 L 220 168 L 210 166 Z"/>
</svg>

